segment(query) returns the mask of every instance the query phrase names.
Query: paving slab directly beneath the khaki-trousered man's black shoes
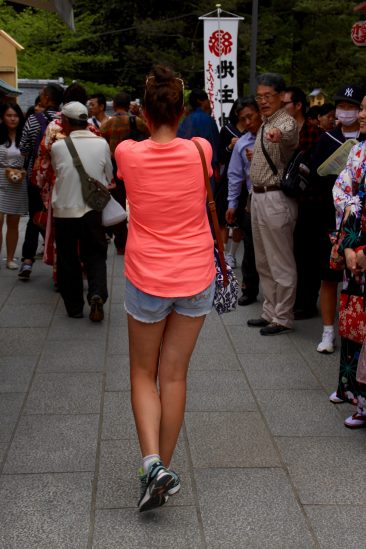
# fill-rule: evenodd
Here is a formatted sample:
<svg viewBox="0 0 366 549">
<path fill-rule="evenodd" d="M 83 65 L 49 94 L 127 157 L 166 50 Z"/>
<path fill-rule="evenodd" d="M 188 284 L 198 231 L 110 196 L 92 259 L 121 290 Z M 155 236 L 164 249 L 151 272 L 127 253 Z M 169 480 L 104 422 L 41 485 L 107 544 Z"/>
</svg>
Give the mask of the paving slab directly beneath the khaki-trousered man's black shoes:
<svg viewBox="0 0 366 549">
<path fill-rule="evenodd" d="M 276 337 L 261 336 L 258 328 L 228 326 L 232 344 L 239 354 L 278 355 L 291 348 L 288 334 Z"/>
</svg>

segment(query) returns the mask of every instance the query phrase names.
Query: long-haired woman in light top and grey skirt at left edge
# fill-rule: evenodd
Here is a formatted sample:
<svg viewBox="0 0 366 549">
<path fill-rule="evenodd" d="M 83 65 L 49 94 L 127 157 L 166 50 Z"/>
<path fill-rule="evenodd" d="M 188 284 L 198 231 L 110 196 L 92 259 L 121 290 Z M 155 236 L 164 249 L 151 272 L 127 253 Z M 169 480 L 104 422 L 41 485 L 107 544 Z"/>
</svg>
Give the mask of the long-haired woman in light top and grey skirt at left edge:
<svg viewBox="0 0 366 549">
<path fill-rule="evenodd" d="M 0 106 L 0 250 L 6 217 L 6 267 L 12 270 L 19 268 L 14 254 L 20 216 L 28 212 L 24 158 L 19 150 L 23 125 L 24 115 L 16 103 Z"/>
</svg>

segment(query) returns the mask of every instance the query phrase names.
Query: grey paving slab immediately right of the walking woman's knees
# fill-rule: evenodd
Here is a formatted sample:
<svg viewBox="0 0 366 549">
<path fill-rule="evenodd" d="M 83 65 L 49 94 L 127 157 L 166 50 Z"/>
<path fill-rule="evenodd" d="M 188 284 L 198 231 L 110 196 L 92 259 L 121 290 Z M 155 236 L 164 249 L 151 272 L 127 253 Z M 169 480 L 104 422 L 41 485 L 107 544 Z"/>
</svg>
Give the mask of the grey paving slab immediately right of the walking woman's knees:
<svg viewBox="0 0 366 549">
<path fill-rule="evenodd" d="M 253 411 L 257 405 L 241 371 L 190 371 L 187 411 Z"/>
</svg>

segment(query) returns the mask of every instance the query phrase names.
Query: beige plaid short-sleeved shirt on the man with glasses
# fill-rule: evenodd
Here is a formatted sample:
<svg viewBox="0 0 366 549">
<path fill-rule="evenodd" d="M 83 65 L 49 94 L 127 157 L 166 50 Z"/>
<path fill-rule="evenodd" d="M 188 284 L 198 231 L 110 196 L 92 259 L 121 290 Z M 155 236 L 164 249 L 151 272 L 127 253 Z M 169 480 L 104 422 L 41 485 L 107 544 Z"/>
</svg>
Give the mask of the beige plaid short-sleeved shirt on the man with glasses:
<svg viewBox="0 0 366 549">
<path fill-rule="evenodd" d="M 278 174 L 274 175 L 261 146 L 261 133 L 264 128 L 263 141 L 269 156 L 275 164 Z M 279 143 L 267 141 L 266 133 L 271 128 L 281 130 L 282 137 Z M 263 124 L 257 133 L 253 149 L 253 158 L 250 167 L 250 180 L 252 185 L 267 187 L 278 185 L 294 150 L 299 142 L 299 131 L 295 119 L 287 114 L 285 109 L 279 109 L 269 118 L 264 118 Z"/>
</svg>

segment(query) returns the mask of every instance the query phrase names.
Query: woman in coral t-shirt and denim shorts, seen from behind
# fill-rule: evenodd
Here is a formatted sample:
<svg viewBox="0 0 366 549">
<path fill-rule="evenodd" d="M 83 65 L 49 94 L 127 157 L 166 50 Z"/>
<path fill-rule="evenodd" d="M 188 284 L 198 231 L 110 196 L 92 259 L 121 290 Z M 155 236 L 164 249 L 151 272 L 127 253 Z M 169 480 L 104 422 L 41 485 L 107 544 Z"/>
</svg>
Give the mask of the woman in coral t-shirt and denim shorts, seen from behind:
<svg viewBox="0 0 366 549">
<path fill-rule="evenodd" d="M 202 164 L 191 140 L 176 138 L 184 84 L 156 66 L 146 79 L 145 141 L 115 151 L 130 206 L 125 256 L 131 401 L 143 456 L 140 511 L 180 489 L 170 469 L 186 400 L 188 365 L 212 308 L 215 267 Z M 194 138 L 212 174 L 210 144 Z"/>
</svg>

